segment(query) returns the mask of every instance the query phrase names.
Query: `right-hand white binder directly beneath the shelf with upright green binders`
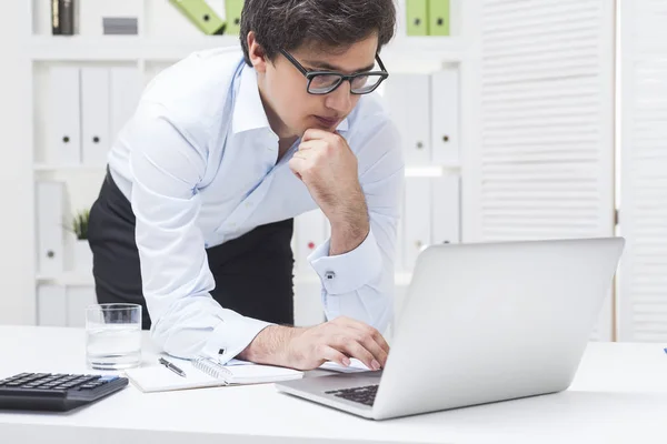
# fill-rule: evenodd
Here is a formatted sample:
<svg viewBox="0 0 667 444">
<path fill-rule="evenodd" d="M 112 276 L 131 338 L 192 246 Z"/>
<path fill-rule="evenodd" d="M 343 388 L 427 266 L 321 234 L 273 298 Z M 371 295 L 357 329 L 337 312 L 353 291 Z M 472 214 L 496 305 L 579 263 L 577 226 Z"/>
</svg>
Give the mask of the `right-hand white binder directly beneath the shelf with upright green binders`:
<svg viewBox="0 0 667 444">
<path fill-rule="evenodd" d="M 436 164 L 458 164 L 459 73 L 447 68 L 431 74 L 431 150 Z"/>
</svg>

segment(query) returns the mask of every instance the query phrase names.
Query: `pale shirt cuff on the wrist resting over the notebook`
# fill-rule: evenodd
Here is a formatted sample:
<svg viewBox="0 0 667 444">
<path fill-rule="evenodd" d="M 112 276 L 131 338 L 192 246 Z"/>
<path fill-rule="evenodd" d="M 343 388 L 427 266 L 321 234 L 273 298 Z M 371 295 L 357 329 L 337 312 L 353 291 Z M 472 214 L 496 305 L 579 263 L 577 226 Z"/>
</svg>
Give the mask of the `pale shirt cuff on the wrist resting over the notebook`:
<svg viewBox="0 0 667 444">
<path fill-rule="evenodd" d="M 272 324 L 239 314 L 227 316 L 213 330 L 203 346 L 202 354 L 220 364 L 226 364 L 246 350 L 255 336 L 269 325 Z"/>
</svg>

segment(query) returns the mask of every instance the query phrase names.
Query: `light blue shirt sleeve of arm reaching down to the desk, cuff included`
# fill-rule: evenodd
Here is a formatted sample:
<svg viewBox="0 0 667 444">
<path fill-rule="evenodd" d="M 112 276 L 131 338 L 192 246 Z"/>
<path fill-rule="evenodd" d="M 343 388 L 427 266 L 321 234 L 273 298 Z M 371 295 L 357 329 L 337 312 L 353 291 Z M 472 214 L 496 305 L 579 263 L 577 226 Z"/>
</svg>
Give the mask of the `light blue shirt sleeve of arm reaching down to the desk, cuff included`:
<svg viewBox="0 0 667 444">
<path fill-rule="evenodd" d="M 145 102 L 123 133 L 151 336 L 176 356 L 226 350 L 221 357 L 231 359 L 269 324 L 223 309 L 209 294 L 215 282 L 196 223 L 207 152 L 181 127 L 161 105 Z"/>
</svg>

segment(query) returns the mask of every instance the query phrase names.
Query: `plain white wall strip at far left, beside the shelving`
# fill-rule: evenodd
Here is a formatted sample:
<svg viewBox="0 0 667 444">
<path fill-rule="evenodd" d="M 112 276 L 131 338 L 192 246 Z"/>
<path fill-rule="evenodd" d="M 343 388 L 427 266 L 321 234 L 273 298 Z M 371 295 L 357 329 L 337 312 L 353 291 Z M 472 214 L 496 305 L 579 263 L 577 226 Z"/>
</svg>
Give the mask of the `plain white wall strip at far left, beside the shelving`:
<svg viewBox="0 0 667 444">
<path fill-rule="evenodd" d="M 29 2 L 6 1 L 0 27 L 0 324 L 34 322 L 32 291 L 33 223 L 29 63 L 21 42 L 29 27 Z"/>
</svg>

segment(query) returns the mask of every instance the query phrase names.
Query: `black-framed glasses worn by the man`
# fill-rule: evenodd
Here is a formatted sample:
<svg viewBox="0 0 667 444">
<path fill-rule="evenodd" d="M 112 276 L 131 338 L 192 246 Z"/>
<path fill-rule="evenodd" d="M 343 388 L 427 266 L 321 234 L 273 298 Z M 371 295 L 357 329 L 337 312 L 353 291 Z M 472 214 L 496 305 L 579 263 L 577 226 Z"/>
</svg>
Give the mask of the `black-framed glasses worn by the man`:
<svg viewBox="0 0 667 444">
<path fill-rule="evenodd" d="M 328 94 L 346 80 L 350 82 L 352 94 L 368 94 L 389 77 L 380 57 L 377 54 L 376 60 L 381 71 L 365 71 L 348 75 L 334 71 L 308 71 L 289 52 L 285 50 L 280 50 L 280 52 L 308 79 L 306 90 L 311 94 Z"/>
</svg>

